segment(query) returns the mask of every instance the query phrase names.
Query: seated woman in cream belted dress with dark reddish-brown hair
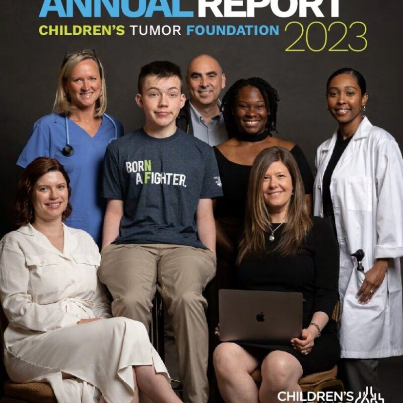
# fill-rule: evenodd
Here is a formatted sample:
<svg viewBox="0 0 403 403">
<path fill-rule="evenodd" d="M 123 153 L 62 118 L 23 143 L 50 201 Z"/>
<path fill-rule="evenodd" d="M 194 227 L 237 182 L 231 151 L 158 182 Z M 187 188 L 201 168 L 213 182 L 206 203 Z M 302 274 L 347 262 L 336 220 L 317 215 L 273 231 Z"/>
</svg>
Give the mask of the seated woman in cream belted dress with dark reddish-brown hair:
<svg viewBox="0 0 403 403">
<path fill-rule="evenodd" d="M 21 227 L 0 241 L 7 372 L 15 382 L 49 382 L 59 403 L 138 403 L 139 388 L 179 403 L 144 325 L 111 318 L 97 245 L 62 224 L 72 210 L 69 183 L 57 160 L 38 157 L 18 185 Z"/>
</svg>

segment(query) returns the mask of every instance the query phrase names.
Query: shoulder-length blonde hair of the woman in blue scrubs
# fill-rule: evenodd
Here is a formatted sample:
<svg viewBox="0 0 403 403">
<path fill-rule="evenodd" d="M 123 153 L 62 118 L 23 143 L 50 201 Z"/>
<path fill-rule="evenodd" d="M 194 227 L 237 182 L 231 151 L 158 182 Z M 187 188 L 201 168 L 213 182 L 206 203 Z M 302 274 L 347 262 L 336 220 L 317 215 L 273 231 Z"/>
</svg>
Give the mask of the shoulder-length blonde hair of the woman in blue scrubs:
<svg viewBox="0 0 403 403">
<path fill-rule="evenodd" d="M 101 61 L 95 55 L 92 49 L 82 49 L 67 52 L 64 55 L 63 62 L 61 63 L 59 73 L 57 75 L 56 97 L 53 104 L 53 112 L 61 113 L 68 116 L 76 107 L 70 102 L 69 94 L 65 91 L 65 83 L 67 78 L 72 73 L 80 61 L 85 59 L 94 60 L 97 63 L 99 76 L 101 80 L 101 95 L 95 103 L 94 117 L 102 116 L 106 111 L 106 83 L 105 72 Z"/>
</svg>

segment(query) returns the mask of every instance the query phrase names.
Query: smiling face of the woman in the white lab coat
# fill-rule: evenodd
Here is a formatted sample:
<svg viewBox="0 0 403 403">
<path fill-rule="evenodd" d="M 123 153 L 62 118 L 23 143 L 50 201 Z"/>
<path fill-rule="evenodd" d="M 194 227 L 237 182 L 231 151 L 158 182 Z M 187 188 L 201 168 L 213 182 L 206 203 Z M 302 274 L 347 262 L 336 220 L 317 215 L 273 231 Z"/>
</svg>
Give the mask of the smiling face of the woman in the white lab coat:
<svg viewBox="0 0 403 403">
<path fill-rule="evenodd" d="M 340 125 L 354 126 L 362 120 L 361 107 L 366 104 L 368 94 L 361 94 L 360 86 L 351 74 L 335 76 L 327 87 L 327 107 Z"/>
</svg>

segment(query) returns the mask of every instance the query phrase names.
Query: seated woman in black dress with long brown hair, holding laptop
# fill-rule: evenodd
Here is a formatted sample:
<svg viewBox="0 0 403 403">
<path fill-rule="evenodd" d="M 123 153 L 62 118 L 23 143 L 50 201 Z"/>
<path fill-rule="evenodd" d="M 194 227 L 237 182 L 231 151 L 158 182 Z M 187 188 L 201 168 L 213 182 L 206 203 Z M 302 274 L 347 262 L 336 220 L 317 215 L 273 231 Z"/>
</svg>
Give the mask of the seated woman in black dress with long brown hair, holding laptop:
<svg viewBox="0 0 403 403">
<path fill-rule="evenodd" d="M 297 163 L 284 148 L 263 150 L 252 165 L 237 263 L 240 288 L 303 294 L 300 338 L 282 346 L 222 343 L 214 352 L 227 403 L 278 402 L 280 391 L 301 391 L 301 376 L 331 369 L 340 354 L 331 319 L 339 298 L 338 246 L 327 222 L 309 217 Z M 260 389 L 250 376 L 259 366 Z"/>
</svg>

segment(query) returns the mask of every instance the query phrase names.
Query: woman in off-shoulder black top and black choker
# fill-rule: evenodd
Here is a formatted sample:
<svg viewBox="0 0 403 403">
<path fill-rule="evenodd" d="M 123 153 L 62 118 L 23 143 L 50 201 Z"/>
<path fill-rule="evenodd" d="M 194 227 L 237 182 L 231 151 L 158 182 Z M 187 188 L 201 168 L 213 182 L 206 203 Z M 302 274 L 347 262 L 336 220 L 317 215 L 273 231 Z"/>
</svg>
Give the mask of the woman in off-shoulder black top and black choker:
<svg viewBox="0 0 403 403">
<path fill-rule="evenodd" d="M 238 80 L 225 94 L 221 109 L 229 140 L 214 148 L 224 196 L 217 200 L 217 244 L 227 256 L 236 253 L 236 237 L 245 215 L 251 165 L 260 151 L 273 146 L 291 151 L 304 181 L 308 211 L 312 209 L 313 176 L 302 150 L 272 137 L 277 122 L 277 91 L 261 78 Z"/>
</svg>

